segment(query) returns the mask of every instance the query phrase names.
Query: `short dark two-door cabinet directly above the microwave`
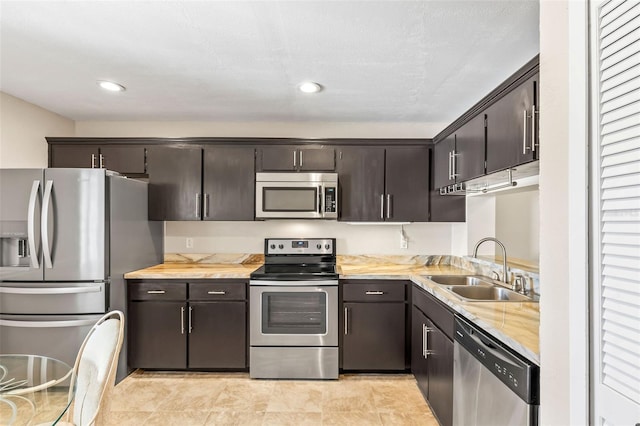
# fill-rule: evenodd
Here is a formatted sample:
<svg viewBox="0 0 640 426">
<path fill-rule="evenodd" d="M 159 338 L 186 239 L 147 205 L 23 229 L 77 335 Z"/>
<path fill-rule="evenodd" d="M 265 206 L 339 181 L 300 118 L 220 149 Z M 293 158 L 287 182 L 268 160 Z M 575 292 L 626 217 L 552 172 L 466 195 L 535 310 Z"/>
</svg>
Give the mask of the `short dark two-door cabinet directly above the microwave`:
<svg viewBox="0 0 640 426">
<path fill-rule="evenodd" d="M 336 169 L 333 147 L 263 146 L 258 148 L 259 172 L 333 172 Z"/>
</svg>

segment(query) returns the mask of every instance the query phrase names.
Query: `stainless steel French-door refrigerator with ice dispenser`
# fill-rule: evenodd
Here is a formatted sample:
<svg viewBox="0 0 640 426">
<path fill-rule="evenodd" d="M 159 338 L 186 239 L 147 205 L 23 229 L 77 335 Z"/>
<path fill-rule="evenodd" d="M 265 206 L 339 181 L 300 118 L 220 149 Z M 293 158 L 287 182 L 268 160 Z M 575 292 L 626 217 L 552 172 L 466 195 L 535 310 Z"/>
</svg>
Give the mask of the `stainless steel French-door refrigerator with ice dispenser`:
<svg viewBox="0 0 640 426">
<path fill-rule="evenodd" d="M 0 353 L 73 365 L 101 315 L 126 313 L 124 273 L 162 262 L 147 183 L 104 169 L 0 169 Z M 127 374 L 126 339 L 118 380 Z"/>
</svg>

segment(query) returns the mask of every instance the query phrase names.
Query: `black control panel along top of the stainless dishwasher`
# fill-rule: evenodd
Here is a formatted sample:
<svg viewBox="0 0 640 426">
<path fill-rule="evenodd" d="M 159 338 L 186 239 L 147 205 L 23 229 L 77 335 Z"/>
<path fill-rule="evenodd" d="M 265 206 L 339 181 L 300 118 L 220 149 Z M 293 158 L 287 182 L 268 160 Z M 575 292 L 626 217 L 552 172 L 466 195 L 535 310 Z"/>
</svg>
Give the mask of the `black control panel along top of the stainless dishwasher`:
<svg viewBox="0 0 640 426">
<path fill-rule="evenodd" d="M 540 368 L 469 321 L 456 317 L 455 340 L 528 404 L 540 404 Z"/>
</svg>

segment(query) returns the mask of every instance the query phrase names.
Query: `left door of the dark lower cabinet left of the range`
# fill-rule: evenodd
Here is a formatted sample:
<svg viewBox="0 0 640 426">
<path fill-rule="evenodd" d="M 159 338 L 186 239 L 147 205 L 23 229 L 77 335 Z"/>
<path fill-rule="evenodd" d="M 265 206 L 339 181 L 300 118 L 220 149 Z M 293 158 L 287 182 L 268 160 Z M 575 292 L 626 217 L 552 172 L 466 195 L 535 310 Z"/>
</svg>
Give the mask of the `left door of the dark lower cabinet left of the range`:
<svg viewBox="0 0 640 426">
<path fill-rule="evenodd" d="M 185 368 L 184 302 L 129 302 L 129 366 Z"/>
</svg>

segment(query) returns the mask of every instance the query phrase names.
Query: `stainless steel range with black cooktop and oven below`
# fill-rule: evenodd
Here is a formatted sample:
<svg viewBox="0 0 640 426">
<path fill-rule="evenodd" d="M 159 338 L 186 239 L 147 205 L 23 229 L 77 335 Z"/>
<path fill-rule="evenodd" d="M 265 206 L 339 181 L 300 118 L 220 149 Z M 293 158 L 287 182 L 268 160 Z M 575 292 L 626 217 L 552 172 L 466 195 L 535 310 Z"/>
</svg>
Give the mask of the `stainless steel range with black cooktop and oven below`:
<svg viewBox="0 0 640 426">
<path fill-rule="evenodd" d="M 338 378 L 335 238 L 267 238 L 250 280 L 249 375 Z"/>
</svg>

